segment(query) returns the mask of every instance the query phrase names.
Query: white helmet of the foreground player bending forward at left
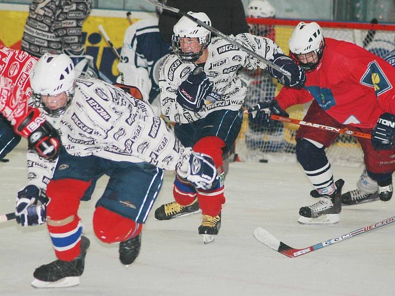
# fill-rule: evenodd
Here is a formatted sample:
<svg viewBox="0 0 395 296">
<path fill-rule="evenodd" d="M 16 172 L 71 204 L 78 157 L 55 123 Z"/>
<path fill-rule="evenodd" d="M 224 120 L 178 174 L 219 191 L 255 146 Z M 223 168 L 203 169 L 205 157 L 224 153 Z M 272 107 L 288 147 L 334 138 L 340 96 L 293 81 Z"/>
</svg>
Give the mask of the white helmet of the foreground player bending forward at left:
<svg viewBox="0 0 395 296">
<path fill-rule="evenodd" d="M 60 116 L 70 106 L 75 92 L 76 72 L 73 61 L 64 53 L 45 53 L 30 73 L 30 85 L 35 106 L 52 117 Z M 62 92 L 66 93 L 68 101 L 66 106 L 56 110 L 50 110 L 41 100 L 41 96 L 55 96 Z"/>
</svg>

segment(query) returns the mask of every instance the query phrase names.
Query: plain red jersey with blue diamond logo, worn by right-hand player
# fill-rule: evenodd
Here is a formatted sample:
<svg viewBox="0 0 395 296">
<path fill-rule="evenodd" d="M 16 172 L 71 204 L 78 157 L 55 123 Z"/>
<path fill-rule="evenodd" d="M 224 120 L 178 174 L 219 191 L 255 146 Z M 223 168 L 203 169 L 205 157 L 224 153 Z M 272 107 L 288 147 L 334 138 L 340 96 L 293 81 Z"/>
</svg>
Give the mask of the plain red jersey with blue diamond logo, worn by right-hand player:
<svg viewBox="0 0 395 296">
<path fill-rule="evenodd" d="M 283 110 L 315 99 L 339 123 L 360 128 L 395 114 L 395 68 L 354 43 L 325 38 L 322 59 L 306 76 L 303 89 L 281 89 L 276 100 Z"/>
</svg>

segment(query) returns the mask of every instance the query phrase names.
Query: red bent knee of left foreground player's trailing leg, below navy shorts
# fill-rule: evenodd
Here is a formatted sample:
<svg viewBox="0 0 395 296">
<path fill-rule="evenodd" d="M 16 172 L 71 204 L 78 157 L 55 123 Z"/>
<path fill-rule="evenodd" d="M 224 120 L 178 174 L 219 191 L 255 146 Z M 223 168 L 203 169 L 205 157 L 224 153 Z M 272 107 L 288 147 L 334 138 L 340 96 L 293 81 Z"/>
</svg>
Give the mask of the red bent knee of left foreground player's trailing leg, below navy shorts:
<svg viewBox="0 0 395 296">
<path fill-rule="evenodd" d="M 93 230 L 104 243 L 122 242 L 141 232 L 142 224 L 98 206 L 93 214 Z"/>
</svg>

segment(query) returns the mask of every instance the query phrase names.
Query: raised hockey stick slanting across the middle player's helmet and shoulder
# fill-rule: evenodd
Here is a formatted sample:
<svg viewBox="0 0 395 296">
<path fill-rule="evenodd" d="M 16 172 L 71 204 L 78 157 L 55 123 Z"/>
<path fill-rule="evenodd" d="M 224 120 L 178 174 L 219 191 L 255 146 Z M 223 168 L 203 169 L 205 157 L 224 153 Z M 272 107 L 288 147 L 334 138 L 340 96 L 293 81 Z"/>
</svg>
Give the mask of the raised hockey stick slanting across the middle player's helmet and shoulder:
<svg viewBox="0 0 395 296">
<path fill-rule="evenodd" d="M 278 67 L 276 64 L 272 63 L 271 61 L 265 59 L 264 57 L 262 57 L 262 56 L 260 56 L 258 54 L 256 54 L 251 49 L 249 49 L 249 48 L 245 47 L 244 45 L 242 45 L 240 42 L 237 42 L 237 40 L 235 40 L 234 38 L 231 38 L 231 37 L 225 35 L 224 33 L 218 31 L 217 29 L 207 25 L 206 23 L 203 23 L 202 21 L 198 20 L 196 17 L 193 17 L 192 15 L 189 15 L 188 13 L 186 13 L 184 11 L 181 11 L 178 8 L 171 7 L 171 6 L 168 6 L 166 4 L 160 3 L 158 0 L 146 0 L 146 1 L 150 2 L 151 4 L 156 5 L 158 7 L 161 7 L 163 9 L 175 12 L 178 15 L 185 16 L 185 17 L 189 18 L 191 21 L 199 24 L 200 26 L 202 26 L 203 28 L 207 29 L 211 33 L 214 33 L 215 35 L 227 40 L 229 43 L 237 46 L 242 51 L 244 51 L 244 52 L 248 53 L 250 56 L 256 58 L 258 61 L 261 61 L 262 63 L 272 67 L 273 69 L 276 69 L 278 72 L 284 74 L 286 77 L 288 77 L 289 80 L 291 80 L 291 74 L 288 71 L 285 71 L 284 69 Z"/>
</svg>

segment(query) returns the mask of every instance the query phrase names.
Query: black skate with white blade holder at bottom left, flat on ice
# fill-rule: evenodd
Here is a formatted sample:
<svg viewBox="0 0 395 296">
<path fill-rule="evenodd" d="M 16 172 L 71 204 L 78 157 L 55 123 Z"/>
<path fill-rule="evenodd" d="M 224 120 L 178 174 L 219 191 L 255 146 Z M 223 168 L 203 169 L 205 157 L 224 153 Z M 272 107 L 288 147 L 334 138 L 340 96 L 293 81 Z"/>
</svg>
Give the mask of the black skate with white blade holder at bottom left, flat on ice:
<svg viewBox="0 0 395 296">
<path fill-rule="evenodd" d="M 36 268 L 32 286 L 35 288 L 63 288 L 79 285 L 79 276 L 85 265 L 89 239 L 81 236 L 81 254 L 72 261 L 55 260 Z"/>
</svg>

